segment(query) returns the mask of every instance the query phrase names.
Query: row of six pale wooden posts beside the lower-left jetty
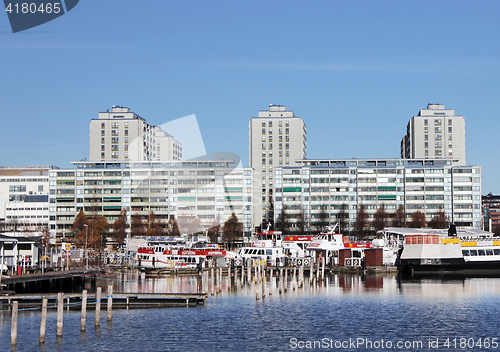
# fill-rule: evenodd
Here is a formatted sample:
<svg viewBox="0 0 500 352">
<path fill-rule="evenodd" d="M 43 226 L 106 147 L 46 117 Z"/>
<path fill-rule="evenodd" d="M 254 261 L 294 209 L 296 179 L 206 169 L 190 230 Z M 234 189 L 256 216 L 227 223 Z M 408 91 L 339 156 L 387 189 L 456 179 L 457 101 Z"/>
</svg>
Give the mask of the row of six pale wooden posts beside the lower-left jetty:
<svg viewBox="0 0 500 352">
<path fill-rule="evenodd" d="M 101 297 L 102 289 L 98 287 L 95 294 L 95 320 L 94 325 L 99 326 L 100 315 L 101 315 Z M 107 296 L 107 319 L 111 321 L 112 309 L 113 309 L 113 285 L 108 285 L 108 296 Z M 12 301 L 12 322 L 11 322 L 11 344 L 17 344 L 17 318 L 18 318 L 18 301 Z M 69 299 L 68 299 L 69 304 Z M 40 322 L 40 339 L 39 342 L 43 344 L 45 342 L 45 331 L 47 327 L 47 307 L 48 299 L 46 297 L 42 298 L 42 318 Z M 63 310 L 64 310 L 64 293 L 60 292 L 57 294 L 57 325 L 56 325 L 56 335 L 62 337 L 63 335 Z M 87 325 L 87 290 L 82 292 L 82 315 L 80 321 L 80 330 L 85 331 Z"/>
</svg>

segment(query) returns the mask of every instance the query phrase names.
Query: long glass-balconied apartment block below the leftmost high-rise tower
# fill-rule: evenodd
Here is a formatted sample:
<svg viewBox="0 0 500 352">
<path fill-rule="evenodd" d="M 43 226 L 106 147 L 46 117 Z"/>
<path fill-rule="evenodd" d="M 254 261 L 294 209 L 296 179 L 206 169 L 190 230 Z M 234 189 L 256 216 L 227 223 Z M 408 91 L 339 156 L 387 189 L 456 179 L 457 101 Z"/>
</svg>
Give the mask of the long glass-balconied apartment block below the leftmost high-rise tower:
<svg viewBox="0 0 500 352">
<path fill-rule="evenodd" d="M 171 217 L 197 218 L 205 231 L 234 212 L 244 235 L 252 228 L 252 170 L 234 161 L 74 162 L 50 172 L 50 230 L 70 233 L 75 216 L 105 216 L 112 224 L 122 209 L 128 220 L 151 212 L 165 225 Z M 180 229 L 182 232 L 182 229 Z"/>
</svg>

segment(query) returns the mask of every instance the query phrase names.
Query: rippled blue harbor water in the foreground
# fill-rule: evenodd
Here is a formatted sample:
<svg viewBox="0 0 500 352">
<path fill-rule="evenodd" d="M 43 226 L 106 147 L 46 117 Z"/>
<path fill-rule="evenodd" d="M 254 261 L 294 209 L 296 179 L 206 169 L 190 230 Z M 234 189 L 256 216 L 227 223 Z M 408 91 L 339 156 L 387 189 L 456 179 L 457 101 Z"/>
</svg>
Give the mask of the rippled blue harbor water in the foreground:
<svg viewBox="0 0 500 352">
<path fill-rule="evenodd" d="M 276 277 L 265 285 L 241 285 L 223 277 L 211 294 L 207 274 L 103 277 L 114 292 L 209 293 L 204 305 L 188 308 L 116 309 L 112 322 L 87 313 L 64 313 L 56 337 L 49 310 L 45 343 L 38 343 L 40 311 L 19 312 L 17 345 L 10 344 L 10 315 L 0 313 L 2 351 L 489 351 L 500 350 L 499 278 L 399 278 L 391 274 L 339 274 L 279 293 Z M 200 286 L 201 284 L 201 286 Z M 295 289 L 294 289 L 295 287 Z M 258 291 L 256 291 L 256 288 Z M 272 294 L 270 295 L 270 290 Z M 105 292 L 105 291 L 103 291 Z M 258 299 L 257 299 L 258 298 Z"/>
</svg>

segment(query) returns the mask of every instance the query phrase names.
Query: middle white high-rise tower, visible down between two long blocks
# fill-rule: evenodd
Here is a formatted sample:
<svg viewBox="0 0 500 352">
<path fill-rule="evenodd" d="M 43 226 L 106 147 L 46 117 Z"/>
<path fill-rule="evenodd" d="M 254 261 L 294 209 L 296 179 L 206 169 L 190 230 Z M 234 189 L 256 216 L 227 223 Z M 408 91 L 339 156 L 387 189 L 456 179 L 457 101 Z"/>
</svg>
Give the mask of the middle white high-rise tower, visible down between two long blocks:
<svg viewBox="0 0 500 352">
<path fill-rule="evenodd" d="M 270 105 L 249 123 L 253 178 L 253 224 L 260 225 L 273 203 L 274 168 L 295 165 L 307 154 L 306 125 L 284 105 Z"/>
</svg>

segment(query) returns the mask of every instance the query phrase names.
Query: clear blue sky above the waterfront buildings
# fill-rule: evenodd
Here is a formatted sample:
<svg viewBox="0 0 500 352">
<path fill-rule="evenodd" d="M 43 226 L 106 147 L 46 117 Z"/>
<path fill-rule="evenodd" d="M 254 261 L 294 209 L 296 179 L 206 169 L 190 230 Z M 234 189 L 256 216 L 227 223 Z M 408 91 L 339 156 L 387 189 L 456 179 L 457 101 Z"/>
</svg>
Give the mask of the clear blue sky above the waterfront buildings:
<svg viewBox="0 0 500 352">
<path fill-rule="evenodd" d="M 207 152 L 248 165 L 248 121 L 286 105 L 309 158 L 399 157 L 428 103 L 465 117 L 467 163 L 500 194 L 498 1 L 82 0 L 13 34 L 0 15 L 0 165 L 68 167 L 112 105 L 196 114 Z"/>
</svg>

